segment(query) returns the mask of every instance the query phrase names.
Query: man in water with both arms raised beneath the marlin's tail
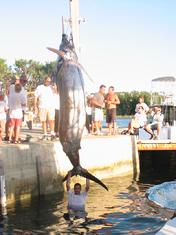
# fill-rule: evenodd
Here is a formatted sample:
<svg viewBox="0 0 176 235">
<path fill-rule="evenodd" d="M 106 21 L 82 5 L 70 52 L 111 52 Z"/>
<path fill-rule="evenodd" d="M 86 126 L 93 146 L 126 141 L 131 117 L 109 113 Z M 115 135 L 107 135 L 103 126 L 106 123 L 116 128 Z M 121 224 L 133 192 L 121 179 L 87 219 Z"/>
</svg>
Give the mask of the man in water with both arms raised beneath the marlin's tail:
<svg viewBox="0 0 176 235">
<path fill-rule="evenodd" d="M 68 213 L 64 214 L 66 220 L 70 218 L 79 219 L 85 218 L 87 221 L 87 212 L 85 211 L 85 203 L 87 199 L 87 192 L 89 191 L 90 181 L 86 179 L 85 191 L 81 192 L 81 184 L 76 183 L 73 191 L 70 189 L 71 171 L 68 173 L 66 182 L 67 195 L 68 195 Z"/>
</svg>

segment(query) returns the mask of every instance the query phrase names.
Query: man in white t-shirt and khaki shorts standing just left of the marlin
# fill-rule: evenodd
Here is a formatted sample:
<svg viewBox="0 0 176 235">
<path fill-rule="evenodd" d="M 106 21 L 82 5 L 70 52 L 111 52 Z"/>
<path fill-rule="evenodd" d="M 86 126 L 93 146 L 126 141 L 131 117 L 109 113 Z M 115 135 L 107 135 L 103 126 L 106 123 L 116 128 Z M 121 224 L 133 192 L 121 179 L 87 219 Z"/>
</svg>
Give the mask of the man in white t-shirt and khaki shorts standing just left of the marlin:
<svg viewBox="0 0 176 235">
<path fill-rule="evenodd" d="M 44 84 L 39 85 L 35 90 L 35 113 L 39 113 L 40 121 L 42 122 L 43 137 L 47 139 L 47 121 L 49 123 L 51 138 L 55 137 L 54 133 L 54 116 L 55 109 L 53 106 L 53 90 L 50 86 L 51 78 L 45 77 Z"/>
</svg>

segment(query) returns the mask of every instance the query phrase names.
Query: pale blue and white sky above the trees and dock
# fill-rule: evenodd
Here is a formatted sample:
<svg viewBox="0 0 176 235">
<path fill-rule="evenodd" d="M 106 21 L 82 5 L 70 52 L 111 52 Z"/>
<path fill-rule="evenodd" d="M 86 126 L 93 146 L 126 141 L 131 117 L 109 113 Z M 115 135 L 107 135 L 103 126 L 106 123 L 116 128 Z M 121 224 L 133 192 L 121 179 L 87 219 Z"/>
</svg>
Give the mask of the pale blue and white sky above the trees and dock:
<svg viewBox="0 0 176 235">
<path fill-rule="evenodd" d="M 150 91 L 151 80 L 176 76 L 175 0 L 79 0 L 80 62 L 94 92 L 101 84 L 118 91 Z M 61 18 L 69 0 L 6 0 L 0 4 L 0 58 L 41 63 L 57 56 Z M 69 32 L 69 28 L 65 28 Z"/>
</svg>

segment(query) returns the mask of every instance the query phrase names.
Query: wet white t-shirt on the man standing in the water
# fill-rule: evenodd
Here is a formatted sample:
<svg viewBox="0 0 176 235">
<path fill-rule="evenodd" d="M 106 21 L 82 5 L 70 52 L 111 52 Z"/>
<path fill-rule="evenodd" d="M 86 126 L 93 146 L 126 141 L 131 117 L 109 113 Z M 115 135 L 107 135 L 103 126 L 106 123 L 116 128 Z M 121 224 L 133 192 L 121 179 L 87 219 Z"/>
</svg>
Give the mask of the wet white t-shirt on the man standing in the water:
<svg viewBox="0 0 176 235">
<path fill-rule="evenodd" d="M 77 211 L 85 210 L 85 203 L 87 199 L 87 192 L 75 194 L 71 190 L 67 191 L 68 194 L 68 208 Z"/>
</svg>

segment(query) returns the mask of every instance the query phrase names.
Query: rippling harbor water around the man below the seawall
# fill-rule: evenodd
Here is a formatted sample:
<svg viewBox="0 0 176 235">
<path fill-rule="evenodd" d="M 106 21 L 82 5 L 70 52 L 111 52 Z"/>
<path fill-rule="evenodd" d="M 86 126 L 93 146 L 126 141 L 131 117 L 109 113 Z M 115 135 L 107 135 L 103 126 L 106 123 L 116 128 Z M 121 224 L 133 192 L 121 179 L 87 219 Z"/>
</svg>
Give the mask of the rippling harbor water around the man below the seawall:
<svg viewBox="0 0 176 235">
<path fill-rule="evenodd" d="M 63 218 L 66 194 L 17 202 L 1 218 L 0 234 L 155 234 L 165 216 L 150 206 L 145 191 L 150 186 L 132 176 L 104 180 L 109 192 L 91 183 L 87 201 L 89 222 L 70 225 Z M 27 233 L 28 232 L 28 233 Z"/>
</svg>

